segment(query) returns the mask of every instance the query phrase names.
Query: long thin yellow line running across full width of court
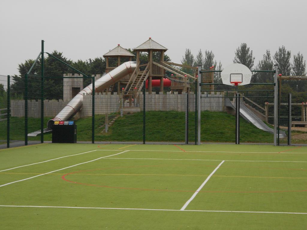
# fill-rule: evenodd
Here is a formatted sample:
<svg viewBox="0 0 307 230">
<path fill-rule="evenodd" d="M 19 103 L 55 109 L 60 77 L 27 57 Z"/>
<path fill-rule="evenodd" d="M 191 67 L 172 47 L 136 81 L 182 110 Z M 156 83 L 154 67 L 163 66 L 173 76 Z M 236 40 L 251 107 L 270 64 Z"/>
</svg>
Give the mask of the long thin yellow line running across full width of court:
<svg viewBox="0 0 307 230">
<path fill-rule="evenodd" d="M 41 173 L 0 173 L 0 174 L 41 174 Z M 63 173 L 48 173 L 46 175 L 63 175 Z M 208 175 L 183 175 L 183 174 L 109 174 L 109 173 L 74 173 L 72 175 L 110 175 L 110 176 L 192 176 L 192 177 L 207 177 Z M 219 176 L 213 177 L 246 177 L 246 178 L 275 178 L 275 179 L 307 179 L 307 177 L 257 177 L 257 176 Z"/>
</svg>

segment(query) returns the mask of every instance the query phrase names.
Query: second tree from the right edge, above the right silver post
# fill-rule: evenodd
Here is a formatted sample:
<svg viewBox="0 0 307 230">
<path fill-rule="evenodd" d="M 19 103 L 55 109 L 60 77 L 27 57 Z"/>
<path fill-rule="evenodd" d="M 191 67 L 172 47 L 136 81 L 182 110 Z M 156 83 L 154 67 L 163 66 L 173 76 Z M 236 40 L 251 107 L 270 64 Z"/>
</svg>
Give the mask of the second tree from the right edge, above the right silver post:
<svg viewBox="0 0 307 230">
<path fill-rule="evenodd" d="M 278 74 L 284 76 L 290 76 L 291 64 L 290 64 L 291 52 L 286 50 L 284 46 L 279 47 L 278 51 L 275 52 L 273 59 L 278 64 Z"/>
</svg>

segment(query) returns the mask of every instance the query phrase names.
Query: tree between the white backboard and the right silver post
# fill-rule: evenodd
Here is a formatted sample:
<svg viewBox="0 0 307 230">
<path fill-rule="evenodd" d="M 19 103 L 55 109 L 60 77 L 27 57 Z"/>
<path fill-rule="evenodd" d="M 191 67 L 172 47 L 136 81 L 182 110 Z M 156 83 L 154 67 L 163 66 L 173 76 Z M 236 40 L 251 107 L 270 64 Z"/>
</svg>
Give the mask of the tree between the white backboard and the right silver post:
<svg viewBox="0 0 307 230">
<path fill-rule="evenodd" d="M 256 70 L 273 70 L 274 64 L 271 59 L 271 53 L 270 50 L 266 50 L 266 53 L 263 55 L 263 58 L 261 61 L 259 61 Z M 265 73 L 265 72 L 257 72 L 252 79 L 252 82 L 272 82 L 272 75 L 271 73 Z"/>
</svg>

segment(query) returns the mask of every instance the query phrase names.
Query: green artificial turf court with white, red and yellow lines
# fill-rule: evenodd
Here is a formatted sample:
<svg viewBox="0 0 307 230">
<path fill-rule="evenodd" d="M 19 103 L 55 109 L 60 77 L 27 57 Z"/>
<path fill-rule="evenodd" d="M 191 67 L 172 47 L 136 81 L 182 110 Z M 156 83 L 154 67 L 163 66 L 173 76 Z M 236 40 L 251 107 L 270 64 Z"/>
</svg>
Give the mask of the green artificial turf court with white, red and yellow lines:
<svg viewBox="0 0 307 230">
<path fill-rule="evenodd" d="M 306 229 L 307 147 L 0 150 L 1 229 Z"/>
</svg>

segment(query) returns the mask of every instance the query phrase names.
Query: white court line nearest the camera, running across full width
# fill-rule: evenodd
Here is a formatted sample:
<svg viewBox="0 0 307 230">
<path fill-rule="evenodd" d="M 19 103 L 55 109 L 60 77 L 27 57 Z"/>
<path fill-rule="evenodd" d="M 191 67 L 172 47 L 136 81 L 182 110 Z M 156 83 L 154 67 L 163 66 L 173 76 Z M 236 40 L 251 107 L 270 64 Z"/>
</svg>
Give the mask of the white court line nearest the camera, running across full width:
<svg viewBox="0 0 307 230">
<path fill-rule="evenodd" d="M 134 209 L 134 208 L 101 208 L 101 207 L 69 207 L 69 206 L 34 206 L 34 205 L 0 205 L 0 207 L 17 208 L 63 208 L 63 209 L 114 209 L 114 210 L 147 210 L 147 211 L 184 211 L 184 212 L 209 212 L 209 213 L 277 213 L 277 214 L 307 214 L 293 212 L 258 212 L 258 211 L 223 211 L 223 210 L 177 210 L 177 209 Z"/>
</svg>

